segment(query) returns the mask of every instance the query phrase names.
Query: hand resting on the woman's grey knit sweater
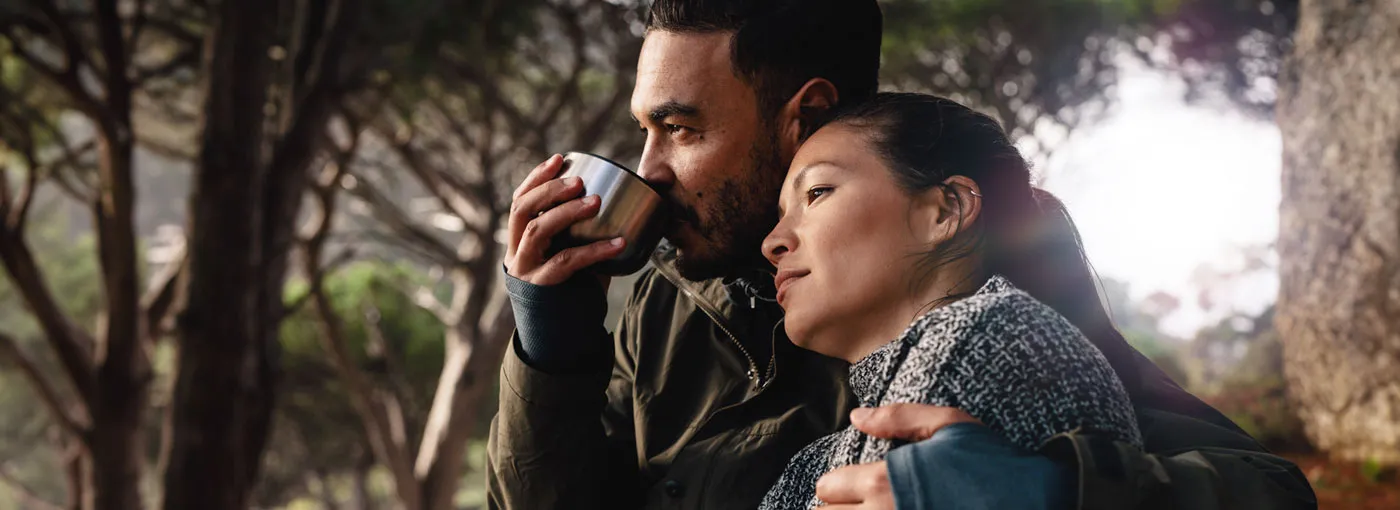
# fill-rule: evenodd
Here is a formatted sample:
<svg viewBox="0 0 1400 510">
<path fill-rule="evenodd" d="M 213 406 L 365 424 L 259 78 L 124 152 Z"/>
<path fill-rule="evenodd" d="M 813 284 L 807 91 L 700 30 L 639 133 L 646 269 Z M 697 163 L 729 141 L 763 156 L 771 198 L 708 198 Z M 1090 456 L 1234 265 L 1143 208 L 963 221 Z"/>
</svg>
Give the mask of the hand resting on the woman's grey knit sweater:
<svg viewBox="0 0 1400 510">
<path fill-rule="evenodd" d="M 938 429 L 953 423 L 981 425 L 962 409 L 923 404 L 851 411 L 851 425 L 855 429 L 875 437 L 902 439 L 910 443 L 934 437 Z M 885 462 L 848 465 L 823 475 L 816 481 L 816 497 L 833 510 L 895 509 L 895 492 L 890 490 L 889 469 Z"/>
</svg>

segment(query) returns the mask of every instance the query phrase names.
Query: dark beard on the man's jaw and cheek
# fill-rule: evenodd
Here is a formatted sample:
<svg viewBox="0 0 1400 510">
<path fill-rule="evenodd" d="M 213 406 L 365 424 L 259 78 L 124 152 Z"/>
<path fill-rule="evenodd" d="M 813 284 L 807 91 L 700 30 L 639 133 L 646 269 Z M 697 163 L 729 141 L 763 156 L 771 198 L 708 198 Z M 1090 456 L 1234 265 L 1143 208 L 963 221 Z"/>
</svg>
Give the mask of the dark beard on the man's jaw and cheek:
<svg viewBox="0 0 1400 510">
<path fill-rule="evenodd" d="M 771 130 L 769 130 L 773 133 Z M 711 198 L 707 221 L 693 210 L 680 213 L 710 245 L 706 256 L 686 254 L 676 256 L 676 269 L 687 280 L 699 282 L 722 276 L 738 276 L 746 269 L 766 268 L 763 238 L 778 223 L 777 200 L 787 175 L 778 154 L 777 133 L 756 142 L 749 150 L 743 175 L 746 182 L 725 182 Z"/>
</svg>

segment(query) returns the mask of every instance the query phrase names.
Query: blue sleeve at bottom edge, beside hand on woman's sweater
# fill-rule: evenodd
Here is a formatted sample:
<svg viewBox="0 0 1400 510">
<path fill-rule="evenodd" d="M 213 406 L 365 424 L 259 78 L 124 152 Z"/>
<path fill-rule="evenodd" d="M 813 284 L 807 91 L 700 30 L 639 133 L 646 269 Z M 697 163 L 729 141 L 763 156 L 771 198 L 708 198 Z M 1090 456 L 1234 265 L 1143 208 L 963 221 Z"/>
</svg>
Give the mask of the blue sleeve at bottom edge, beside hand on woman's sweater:
<svg viewBox="0 0 1400 510">
<path fill-rule="evenodd" d="M 942 427 L 886 461 L 897 510 L 1071 509 L 1075 502 L 1074 467 L 976 423 Z"/>
</svg>

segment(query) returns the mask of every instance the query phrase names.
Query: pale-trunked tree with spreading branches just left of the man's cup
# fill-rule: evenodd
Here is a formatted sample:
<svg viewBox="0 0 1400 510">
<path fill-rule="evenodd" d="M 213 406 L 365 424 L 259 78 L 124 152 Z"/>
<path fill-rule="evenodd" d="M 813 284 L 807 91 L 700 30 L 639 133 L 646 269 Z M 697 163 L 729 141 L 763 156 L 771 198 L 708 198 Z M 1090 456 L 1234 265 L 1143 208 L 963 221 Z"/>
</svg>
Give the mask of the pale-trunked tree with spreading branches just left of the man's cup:
<svg viewBox="0 0 1400 510">
<path fill-rule="evenodd" d="M 442 275 L 435 286 L 441 291 L 405 289 L 445 332 L 442 373 L 426 416 L 410 416 L 400 395 L 377 387 L 356 366 L 347 321 L 322 289 L 312 286 L 309 298 L 321 318 L 322 346 L 361 418 L 370 450 L 410 510 L 451 507 L 468 440 L 480 432 L 482 415 L 490 413 L 482 404 L 496 388 L 514 326 L 498 290 L 496 241 L 508 191 L 549 150 L 595 150 L 622 160 L 640 153 L 640 140 L 616 129 L 640 50 L 636 7 L 571 1 L 515 7 L 494 17 L 456 18 L 477 20 L 501 46 L 473 52 L 480 39 L 438 41 L 434 69 L 392 91 L 382 111 L 368 109 L 367 132 L 322 170 L 315 186 L 304 273 L 325 273 L 325 261 L 335 258 L 325 249 L 340 195 L 347 192 L 368 210 L 365 234 L 392 240 L 399 252 Z M 498 28 L 512 24 L 512 31 Z M 358 133 L 360 122 L 351 120 L 347 132 Z M 413 198 L 431 206 L 406 210 L 402 203 Z M 406 423 L 423 429 L 405 433 Z M 416 447 L 413 436 L 420 437 Z"/>
</svg>

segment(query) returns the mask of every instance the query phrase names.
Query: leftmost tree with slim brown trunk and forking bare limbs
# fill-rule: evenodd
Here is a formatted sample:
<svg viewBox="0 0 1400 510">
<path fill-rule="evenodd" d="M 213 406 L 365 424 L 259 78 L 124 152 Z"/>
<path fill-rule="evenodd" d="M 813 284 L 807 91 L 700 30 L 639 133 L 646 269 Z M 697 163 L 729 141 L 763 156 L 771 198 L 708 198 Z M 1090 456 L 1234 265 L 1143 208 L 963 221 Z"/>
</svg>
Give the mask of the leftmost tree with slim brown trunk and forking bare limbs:
<svg viewBox="0 0 1400 510">
<path fill-rule="evenodd" d="M 0 133 L 6 151 L 18 154 L 25 170 L 22 189 L 11 192 L 8 168 L 0 163 L 0 261 L 57 354 L 62 374 L 38 370 L 32 354 L 10 335 L 0 333 L 0 346 L 41 395 L 64 441 L 83 453 L 73 455 L 66 469 L 73 509 L 137 509 L 143 503 L 141 426 L 151 377 L 148 352 L 157 331 L 144 325 L 162 321 L 169 311 L 174 277 L 143 296 L 133 227 L 133 91 L 179 67 L 183 55 L 195 49 L 176 50 L 154 64 L 133 56 L 143 43 L 179 46 L 190 41 L 171 22 L 174 11 L 153 6 L 122 15 L 116 1 L 74 11 L 38 0 L 0 7 L 0 63 L 6 67 L 0 73 L 6 81 L 0 87 Z M 84 147 L 53 126 L 52 119 L 64 111 L 92 126 L 92 140 Z M 57 146 L 55 156 L 43 156 L 46 143 Z M 81 165 L 78 153 L 85 146 L 95 153 L 95 185 L 84 188 L 64 174 Z M 62 310 L 28 244 L 29 212 L 38 184 L 48 178 L 91 205 L 104 301 L 95 331 Z"/>
</svg>

